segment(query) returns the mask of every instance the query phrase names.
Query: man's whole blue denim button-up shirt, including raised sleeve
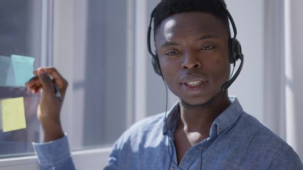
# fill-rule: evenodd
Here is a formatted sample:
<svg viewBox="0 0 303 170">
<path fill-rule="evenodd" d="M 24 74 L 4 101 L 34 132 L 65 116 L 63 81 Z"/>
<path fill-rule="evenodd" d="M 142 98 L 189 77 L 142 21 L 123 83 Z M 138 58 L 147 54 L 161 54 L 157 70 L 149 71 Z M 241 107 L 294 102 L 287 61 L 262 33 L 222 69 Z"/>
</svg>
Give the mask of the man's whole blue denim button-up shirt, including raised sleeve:
<svg viewBox="0 0 303 170">
<path fill-rule="evenodd" d="M 210 137 L 204 146 L 202 169 L 303 169 L 291 146 L 243 112 L 236 98 L 212 123 Z M 104 169 L 200 169 L 201 147 L 205 140 L 193 145 L 178 168 L 174 131 L 177 125 L 177 103 L 164 122 L 165 113 L 145 118 L 125 131 L 113 144 L 109 164 Z M 167 135 L 170 137 L 168 141 Z M 34 148 L 43 169 L 74 169 L 67 137 L 37 144 Z"/>
</svg>

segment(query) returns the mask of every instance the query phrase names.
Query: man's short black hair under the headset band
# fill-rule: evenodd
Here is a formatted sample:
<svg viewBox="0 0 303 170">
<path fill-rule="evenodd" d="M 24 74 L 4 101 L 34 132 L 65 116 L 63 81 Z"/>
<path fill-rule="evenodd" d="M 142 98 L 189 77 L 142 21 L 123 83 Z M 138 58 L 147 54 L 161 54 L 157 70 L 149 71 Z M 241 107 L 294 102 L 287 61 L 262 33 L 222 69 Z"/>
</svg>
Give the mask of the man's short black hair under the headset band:
<svg viewBox="0 0 303 170">
<path fill-rule="evenodd" d="M 220 1 L 222 1 L 223 6 Z M 224 0 L 162 0 L 154 13 L 154 35 L 163 20 L 169 16 L 178 13 L 205 12 L 220 19 L 230 37 L 230 23 L 225 8 Z"/>
</svg>

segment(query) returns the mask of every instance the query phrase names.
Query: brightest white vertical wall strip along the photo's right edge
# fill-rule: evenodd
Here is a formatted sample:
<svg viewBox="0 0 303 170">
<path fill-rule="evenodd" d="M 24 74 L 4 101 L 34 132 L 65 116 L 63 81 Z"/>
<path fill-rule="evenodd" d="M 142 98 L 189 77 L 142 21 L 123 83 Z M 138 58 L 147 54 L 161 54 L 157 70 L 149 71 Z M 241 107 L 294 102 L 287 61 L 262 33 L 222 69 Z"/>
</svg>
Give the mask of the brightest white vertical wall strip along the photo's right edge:
<svg viewBox="0 0 303 170">
<path fill-rule="evenodd" d="M 285 1 L 286 141 L 303 160 L 303 11 L 301 0 Z"/>
</svg>

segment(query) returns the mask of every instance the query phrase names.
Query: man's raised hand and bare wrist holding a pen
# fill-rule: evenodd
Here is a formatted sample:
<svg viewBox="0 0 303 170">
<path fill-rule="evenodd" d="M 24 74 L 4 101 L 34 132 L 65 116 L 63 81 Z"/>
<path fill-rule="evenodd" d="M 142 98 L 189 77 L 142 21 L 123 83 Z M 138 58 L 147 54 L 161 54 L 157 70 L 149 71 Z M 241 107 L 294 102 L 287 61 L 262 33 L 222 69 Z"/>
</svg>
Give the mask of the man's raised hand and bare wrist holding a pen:
<svg viewBox="0 0 303 170">
<path fill-rule="evenodd" d="M 37 117 L 41 122 L 44 132 L 43 142 L 57 140 L 64 136 L 60 121 L 60 111 L 68 82 L 55 68 L 40 68 L 35 70 L 34 74 L 37 76 L 30 79 L 25 86 L 28 87 L 28 91 L 32 91 L 33 94 L 38 94 L 42 91 L 40 104 L 37 109 Z M 56 98 L 50 75 L 53 77 L 61 93 L 61 102 Z"/>
</svg>

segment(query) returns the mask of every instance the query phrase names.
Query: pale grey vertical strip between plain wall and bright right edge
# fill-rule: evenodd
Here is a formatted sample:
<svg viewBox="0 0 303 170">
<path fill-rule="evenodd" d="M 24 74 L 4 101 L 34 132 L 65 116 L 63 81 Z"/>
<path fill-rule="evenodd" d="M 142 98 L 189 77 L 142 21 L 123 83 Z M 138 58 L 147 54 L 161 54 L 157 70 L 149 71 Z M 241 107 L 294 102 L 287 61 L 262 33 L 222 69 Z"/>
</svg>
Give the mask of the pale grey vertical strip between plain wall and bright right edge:
<svg viewBox="0 0 303 170">
<path fill-rule="evenodd" d="M 264 1 L 264 9 L 263 120 L 286 140 L 285 77 L 280 76 L 285 75 L 285 0 Z"/>
</svg>

